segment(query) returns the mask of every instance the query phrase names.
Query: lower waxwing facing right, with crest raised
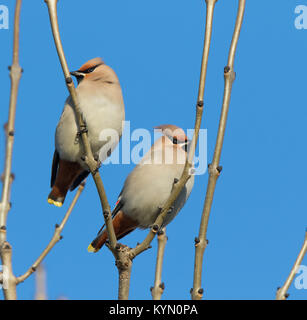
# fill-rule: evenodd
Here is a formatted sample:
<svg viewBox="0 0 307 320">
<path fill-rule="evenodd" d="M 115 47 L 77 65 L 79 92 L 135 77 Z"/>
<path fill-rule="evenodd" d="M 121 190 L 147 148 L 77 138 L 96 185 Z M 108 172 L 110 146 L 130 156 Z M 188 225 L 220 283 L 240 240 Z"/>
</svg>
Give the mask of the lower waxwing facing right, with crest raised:
<svg viewBox="0 0 307 320">
<path fill-rule="evenodd" d="M 162 125 L 161 136 L 127 177 L 112 212 L 117 239 L 136 228 L 149 228 L 169 198 L 174 182 L 180 179 L 187 158 L 189 140 L 184 131 L 174 125 Z M 194 184 L 194 176 L 187 181 L 163 226 L 170 223 L 187 201 Z M 162 226 L 162 227 L 163 227 Z M 97 252 L 108 239 L 102 227 L 88 247 Z"/>
</svg>

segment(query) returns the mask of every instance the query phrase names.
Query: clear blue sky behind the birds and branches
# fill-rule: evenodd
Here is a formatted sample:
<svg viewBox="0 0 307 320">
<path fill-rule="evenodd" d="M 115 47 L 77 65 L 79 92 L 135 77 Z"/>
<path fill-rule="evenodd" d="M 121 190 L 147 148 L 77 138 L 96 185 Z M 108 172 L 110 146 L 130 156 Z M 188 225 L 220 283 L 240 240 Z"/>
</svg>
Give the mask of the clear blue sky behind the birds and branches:
<svg viewBox="0 0 307 320">
<path fill-rule="evenodd" d="M 0 124 L 7 121 L 7 66 L 12 61 L 15 1 L 9 30 L 0 30 Z M 224 86 L 223 68 L 238 1 L 217 2 L 210 50 L 202 128 L 208 130 L 212 159 Z M 204 258 L 206 299 L 274 299 L 301 248 L 307 226 L 307 31 L 294 27 L 301 1 L 247 1 L 235 60 L 223 172 L 211 212 Z M 162 123 L 194 125 L 203 45 L 205 1 L 118 0 L 59 1 L 59 24 L 71 70 L 100 56 L 120 79 L 131 129 Z M 73 194 L 59 209 L 47 204 L 54 131 L 67 89 L 56 55 L 43 0 L 24 1 L 21 11 L 20 83 L 16 117 L 8 240 L 14 272 L 20 275 L 52 237 Z M 1 166 L 4 135 L 0 132 Z M 3 167 L 3 166 L 2 166 Z M 102 177 L 114 206 L 132 165 L 106 166 Z M 1 169 L 2 171 L 3 169 Z M 190 299 L 194 238 L 198 234 L 207 173 L 196 177 L 184 209 L 168 227 L 163 281 L 164 299 Z M 98 195 L 88 180 L 63 240 L 45 260 L 48 296 L 116 299 L 117 269 L 104 248 L 87 252 L 102 224 Z M 134 246 L 146 231 L 123 243 Z M 131 299 L 151 299 L 156 241 L 133 264 Z M 307 258 L 304 264 L 307 265 Z M 306 299 L 307 290 L 291 286 L 290 299 Z M 32 299 L 34 277 L 18 286 Z"/>
</svg>

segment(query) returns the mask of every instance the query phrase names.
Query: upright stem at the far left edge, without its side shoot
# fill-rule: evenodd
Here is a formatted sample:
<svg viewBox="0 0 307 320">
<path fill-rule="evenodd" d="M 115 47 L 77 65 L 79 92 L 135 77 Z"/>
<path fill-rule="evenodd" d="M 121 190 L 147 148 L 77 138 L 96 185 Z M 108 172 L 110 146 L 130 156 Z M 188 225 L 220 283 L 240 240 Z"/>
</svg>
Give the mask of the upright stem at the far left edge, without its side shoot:
<svg viewBox="0 0 307 320">
<path fill-rule="evenodd" d="M 16 278 L 12 268 L 12 247 L 6 241 L 6 221 L 11 208 L 11 186 L 12 175 L 12 156 L 15 134 L 15 116 L 17 105 L 17 94 L 22 69 L 19 65 L 19 21 L 20 21 L 21 0 L 16 0 L 14 17 L 14 44 L 13 44 L 13 63 L 9 67 L 11 78 L 11 92 L 9 105 L 9 119 L 6 124 L 6 154 L 3 174 L 3 189 L 0 202 L 0 257 L 3 268 L 6 270 L 6 285 L 3 286 L 4 298 L 6 300 L 16 300 Z"/>
</svg>

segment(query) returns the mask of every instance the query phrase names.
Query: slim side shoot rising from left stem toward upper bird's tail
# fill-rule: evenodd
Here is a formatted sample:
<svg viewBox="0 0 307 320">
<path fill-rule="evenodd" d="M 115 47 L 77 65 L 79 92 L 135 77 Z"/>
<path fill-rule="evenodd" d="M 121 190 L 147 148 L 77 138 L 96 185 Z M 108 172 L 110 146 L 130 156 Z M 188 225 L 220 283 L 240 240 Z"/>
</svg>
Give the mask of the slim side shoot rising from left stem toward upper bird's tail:
<svg viewBox="0 0 307 320">
<path fill-rule="evenodd" d="M 32 264 L 32 266 L 28 269 L 28 271 L 23 274 L 22 276 L 17 277 L 17 284 L 19 284 L 20 282 L 25 281 L 33 272 L 36 271 L 36 269 L 38 268 L 38 266 L 41 264 L 41 262 L 43 261 L 43 259 L 47 256 L 47 254 L 51 251 L 51 249 L 55 246 L 55 244 L 60 241 L 62 239 L 61 233 L 63 231 L 63 228 L 73 210 L 73 208 L 75 207 L 82 191 L 84 189 L 84 183 L 80 184 L 62 222 L 60 225 L 56 225 L 55 226 L 55 230 L 54 230 L 54 234 L 52 239 L 50 240 L 49 244 L 47 245 L 47 247 L 45 248 L 45 250 L 41 253 L 41 255 L 37 258 L 37 260 Z"/>
</svg>

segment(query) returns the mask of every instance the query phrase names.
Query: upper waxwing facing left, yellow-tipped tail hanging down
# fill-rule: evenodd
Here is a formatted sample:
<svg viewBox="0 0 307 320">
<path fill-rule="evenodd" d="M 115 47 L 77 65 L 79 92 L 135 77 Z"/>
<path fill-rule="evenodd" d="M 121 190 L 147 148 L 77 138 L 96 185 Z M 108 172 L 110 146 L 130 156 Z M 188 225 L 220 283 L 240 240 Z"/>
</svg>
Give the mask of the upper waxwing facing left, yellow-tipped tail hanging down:
<svg viewBox="0 0 307 320">
<path fill-rule="evenodd" d="M 121 87 L 115 72 L 100 58 L 89 60 L 71 75 L 77 78 L 76 93 L 87 125 L 88 139 L 94 157 L 99 159 L 99 151 L 106 143 L 100 138 L 101 132 L 112 129 L 118 133 L 119 139 L 122 135 L 125 108 Z M 118 140 L 112 142 L 110 150 L 115 148 Z M 50 204 L 62 206 L 67 191 L 75 189 L 87 177 L 89 171 L 81 159 L 83 155 L 80 132 L 69 96 L 55 133 L 52 190 L 48 196 Z M 102 157 L 99 159 L 101 162 L 107 155 L 103 154 Z"/>
</svg>

